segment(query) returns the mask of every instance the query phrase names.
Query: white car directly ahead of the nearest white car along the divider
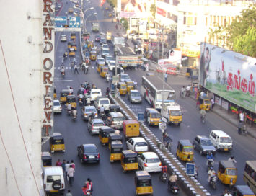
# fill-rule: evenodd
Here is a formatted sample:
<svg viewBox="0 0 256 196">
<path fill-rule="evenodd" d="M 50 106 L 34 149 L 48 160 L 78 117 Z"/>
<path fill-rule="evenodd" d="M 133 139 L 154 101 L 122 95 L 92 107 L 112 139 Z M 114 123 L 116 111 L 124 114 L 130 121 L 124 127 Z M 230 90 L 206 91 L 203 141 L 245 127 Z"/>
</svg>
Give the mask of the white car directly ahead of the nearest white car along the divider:
<svg viewBox="0 0 256 196">
<path fill-rule="evenodd" d="M 146 143 L 144 138 L 131 138 L 126 141 L 128 150 L 135 151 L 136 153 L 146 152 L 149 150 L 148 143 Z"/>
</svg>

